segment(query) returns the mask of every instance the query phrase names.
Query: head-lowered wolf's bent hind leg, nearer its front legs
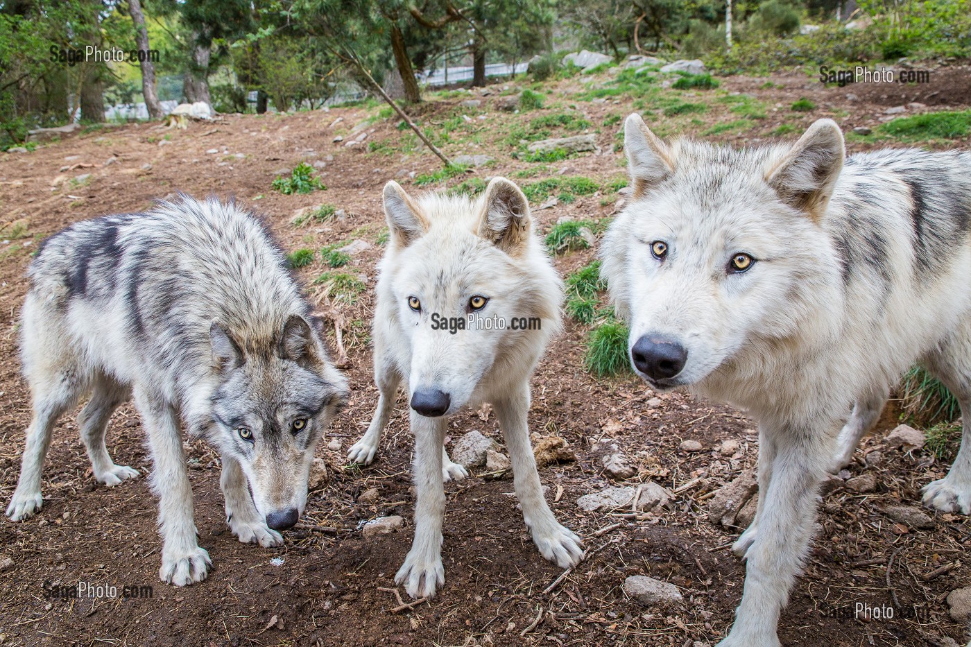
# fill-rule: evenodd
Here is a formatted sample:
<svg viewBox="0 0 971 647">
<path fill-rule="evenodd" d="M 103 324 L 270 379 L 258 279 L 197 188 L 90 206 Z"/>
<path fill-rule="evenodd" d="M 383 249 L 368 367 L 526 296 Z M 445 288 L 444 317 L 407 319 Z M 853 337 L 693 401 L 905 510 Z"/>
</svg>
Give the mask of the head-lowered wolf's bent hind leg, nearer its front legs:
<svg viewBox="0 0 971 647">
<path fill-rule="evenodd" d="M 94 478 L 107 486 L 117 486 L 122 481 L 138 476 L 137 469 L 116 465 L 105 446 L 108 421 L 118 406 L 128 399 L 131 391 L 106 375 L 94 380 L 91 399 L 84 405 L 78 417 L 81 439 L 91 460 Z"/>
</svg>

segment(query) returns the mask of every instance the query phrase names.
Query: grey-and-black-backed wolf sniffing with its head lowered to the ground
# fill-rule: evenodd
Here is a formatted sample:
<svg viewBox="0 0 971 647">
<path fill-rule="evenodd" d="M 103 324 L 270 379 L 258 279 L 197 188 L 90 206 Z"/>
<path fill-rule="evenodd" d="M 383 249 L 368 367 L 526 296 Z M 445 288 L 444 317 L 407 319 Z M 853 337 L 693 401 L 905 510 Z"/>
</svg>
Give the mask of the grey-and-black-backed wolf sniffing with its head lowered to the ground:
<svg viewBox="0 0 971 647">
<path fill-rule="evenodd" d="M 105 447 L 108 419 L 133 397 L 160 499 L 159 577 L 184 586 L 211 564 L 196 541 L 181 425 L 218 450 L 226 521 L 240 541 L 281 545 L 348 388 L 261 222 L 181 196 L 72 224 L 45 241 L 27 275 L 20 358 L 34 415 L 7 515 L 41 508 L 52 427 L 87 394 L 78 425 L 95 478 L 114 486 L 137 476 Z"/>
</svg>

